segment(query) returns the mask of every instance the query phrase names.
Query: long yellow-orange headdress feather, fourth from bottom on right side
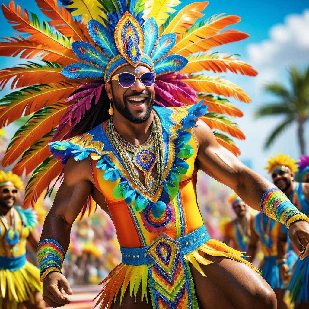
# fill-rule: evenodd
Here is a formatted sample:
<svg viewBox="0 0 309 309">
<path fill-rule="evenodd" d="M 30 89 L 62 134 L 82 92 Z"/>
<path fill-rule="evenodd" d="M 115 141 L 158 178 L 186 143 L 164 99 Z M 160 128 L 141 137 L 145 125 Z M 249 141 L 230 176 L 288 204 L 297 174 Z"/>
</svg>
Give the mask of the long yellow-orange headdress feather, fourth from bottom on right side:
<svg viewBox="0 0 309 309">
<path fill-rule="evenodd" d="M 226 97 L 234 97 L 239 101 L 246 103 L 251 102 L 250 97 L 237 85 L 226 79 L 217 76 L 205 76 L 204 74 L 190 74 L 188 79 L 183 82 L 187 83 L 196 92 L 216 93 Z"/>
</svg>

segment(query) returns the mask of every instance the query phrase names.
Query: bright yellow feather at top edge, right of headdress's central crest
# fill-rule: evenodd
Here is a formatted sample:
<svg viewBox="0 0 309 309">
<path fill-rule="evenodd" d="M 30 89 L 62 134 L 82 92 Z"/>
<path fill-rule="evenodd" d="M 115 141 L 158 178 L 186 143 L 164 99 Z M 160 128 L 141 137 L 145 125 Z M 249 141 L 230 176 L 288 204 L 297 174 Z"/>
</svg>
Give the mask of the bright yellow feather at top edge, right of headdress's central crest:
<svg viewBox="0 0 309 309">
<path fill-rule="evenodd" d="M 181 1 L 179 0 L 156 0 L 149 13 L 149 17 L 153 17 L 158 26 L 161 26 L 170 14 L 175 13 L 176 10 L 173 7 L 180 3 Z"/>
</svg>

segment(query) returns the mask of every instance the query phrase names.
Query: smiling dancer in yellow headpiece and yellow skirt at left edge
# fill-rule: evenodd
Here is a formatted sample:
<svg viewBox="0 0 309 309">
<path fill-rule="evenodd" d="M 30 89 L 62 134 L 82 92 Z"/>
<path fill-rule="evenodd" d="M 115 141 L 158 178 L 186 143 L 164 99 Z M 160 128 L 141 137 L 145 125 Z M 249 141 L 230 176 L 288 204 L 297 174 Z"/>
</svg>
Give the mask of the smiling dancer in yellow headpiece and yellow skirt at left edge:
<svg viewBox="0 0 309 309">
<path fill-rule="evenodd" d="M 0 171 L 0 308 L 42 309 L 40 271 L 26 260 L 26 241 L 36 250 L 39 236 L 33 210 L 14 206 L 23 186 L 11 171 Z"/>
</svg>

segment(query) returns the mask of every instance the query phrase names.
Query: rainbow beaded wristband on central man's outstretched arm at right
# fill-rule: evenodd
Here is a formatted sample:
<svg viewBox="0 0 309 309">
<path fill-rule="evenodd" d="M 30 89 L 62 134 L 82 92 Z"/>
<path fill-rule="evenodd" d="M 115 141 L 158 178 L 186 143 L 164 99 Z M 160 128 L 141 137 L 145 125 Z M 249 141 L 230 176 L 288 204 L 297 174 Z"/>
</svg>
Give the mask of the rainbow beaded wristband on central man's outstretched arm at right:
<svg viewBox="0 0 309 309">
<path fill-rule="evenodd" d="M 308 217 L 301 213 L 278 188 L 270 188 L 263 194 L 261 210 L 269 218 L 286 224 L 287 228 L 298 220 L 309 223 Z"/>
</svg>

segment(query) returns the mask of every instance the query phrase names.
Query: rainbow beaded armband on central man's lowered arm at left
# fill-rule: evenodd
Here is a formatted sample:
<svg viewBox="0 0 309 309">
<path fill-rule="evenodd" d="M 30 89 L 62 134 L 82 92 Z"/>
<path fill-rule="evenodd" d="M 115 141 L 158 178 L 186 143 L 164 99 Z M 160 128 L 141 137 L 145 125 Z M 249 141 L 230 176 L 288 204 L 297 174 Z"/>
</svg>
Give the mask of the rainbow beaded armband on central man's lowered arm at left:
<svg viewBox="0 0 309 309">
<path fill-rule="evenodd" d="M 54 271 L 61 273 L 61 267 L 65 257 L 65 251 L 61 244 L 54 239 L 44 239 L 38 245 L 37 257 L 40 268 L 40 281 Z"/>
</svg>

